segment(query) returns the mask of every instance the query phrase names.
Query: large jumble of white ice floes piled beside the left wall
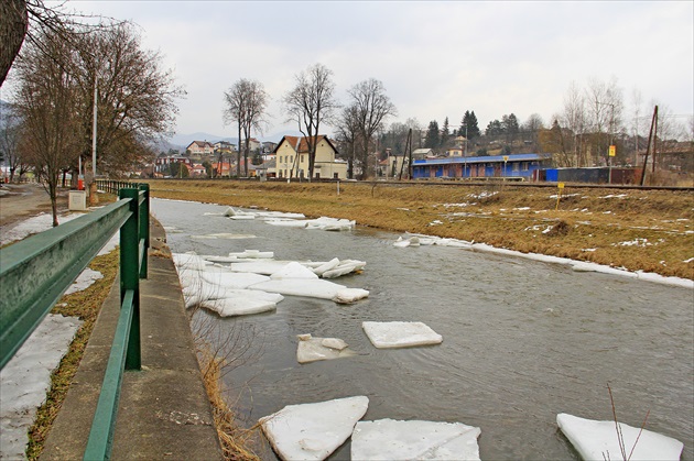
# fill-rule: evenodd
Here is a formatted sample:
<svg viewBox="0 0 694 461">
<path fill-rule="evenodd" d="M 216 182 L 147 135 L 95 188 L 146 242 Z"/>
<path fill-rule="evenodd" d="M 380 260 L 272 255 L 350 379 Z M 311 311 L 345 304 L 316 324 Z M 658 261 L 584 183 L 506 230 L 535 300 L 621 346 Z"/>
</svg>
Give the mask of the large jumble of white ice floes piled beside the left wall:
<svg viewBox="0 0 694 461">
<path fill-rule="evenodd" d="M 307 296 L 350 304 L 369 296 L 362 288 L 328 282 L 359 273 L 366 262 L 276 261 L 273 252 L 246 250 L 228 256 L 172 254 L 186 307 L 202 306 L 223 317 L 274 310 L 282 295 Z M 323 278 L 322 278 L 323 277 Z"/>
</svg>

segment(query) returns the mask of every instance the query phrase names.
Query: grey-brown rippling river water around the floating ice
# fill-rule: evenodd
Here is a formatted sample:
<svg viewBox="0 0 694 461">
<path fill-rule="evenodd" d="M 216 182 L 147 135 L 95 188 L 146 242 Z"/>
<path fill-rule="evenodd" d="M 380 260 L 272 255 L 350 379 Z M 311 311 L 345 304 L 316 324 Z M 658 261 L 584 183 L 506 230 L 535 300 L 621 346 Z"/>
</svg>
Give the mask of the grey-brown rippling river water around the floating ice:
<svg viewBox="0 0 694 461">
<path fill-rule="evenodd" d="M 252 337 L 249 355 L 225 376 L 249 426 L 285 405 L 366 395 L 365 420 L 480 427 L 481 459 L 578 459 L 556 414 L 611 420 L 609 383 L 620 421 L 640 427 L 650 410 L 648 429 L 683 441 L 683 459 L 694 459 L 692 289 L 453 248 L 398 249 L 397 234 L 372 229 L 308 231 L 209 215 L 226 208 L 152 200 L 174 252 L 361 260 L 362 274 L 335 282 L 370 290 L 348 306 L 286 296 L 272 314 L 200 314 L 223 333 Z M 214 233 L 256 238 L 200 238 Z M 423 321 L 444 340 L 379 350 L 361 330 L 366 320 Z M 302 333 L 341 338 L 358 355 L 301 365 Z M 349 459 L 349 442 L 330 459 Z"/>
</svg>

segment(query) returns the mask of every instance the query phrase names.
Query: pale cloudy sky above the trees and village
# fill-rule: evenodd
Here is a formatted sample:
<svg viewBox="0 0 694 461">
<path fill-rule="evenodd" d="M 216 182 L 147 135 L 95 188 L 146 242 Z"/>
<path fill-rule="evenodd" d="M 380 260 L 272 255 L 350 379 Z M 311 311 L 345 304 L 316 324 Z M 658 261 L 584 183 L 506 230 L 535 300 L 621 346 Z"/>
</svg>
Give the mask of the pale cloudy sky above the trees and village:
<svg viewBox="0 0 694 461">
<path fill-rule="evenodd" d="M 561 112 L 570 85 L 616 79 L 627 110 L 633 92 L 694 112 L 692 1 L 84 1 L 67 7 L 132 20 L 187 91 L 177 133 L 234 136 L 223 94 L 240 78 L 271 96 L 265 134 L 285 123 L 282 96 L 315 63 L 334 73 L 337 96 L 381 80 L 398 108 L 391 121 L 480 128 L 503 114 L 522 122 Z M 328 130 L 330 131 L 330 130 Z"/>
</svg>

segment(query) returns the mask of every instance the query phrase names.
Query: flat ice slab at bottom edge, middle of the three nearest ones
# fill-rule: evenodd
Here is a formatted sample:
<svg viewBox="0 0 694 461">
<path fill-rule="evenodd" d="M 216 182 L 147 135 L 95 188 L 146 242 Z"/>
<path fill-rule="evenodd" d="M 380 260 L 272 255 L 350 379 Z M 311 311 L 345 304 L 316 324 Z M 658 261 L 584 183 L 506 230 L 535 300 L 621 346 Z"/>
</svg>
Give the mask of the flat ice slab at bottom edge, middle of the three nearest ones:
<svg viewBox="0 0 694 461">
<path fill-rule="evenodd" d="M 359 421 L 353 460 L 479 460 L 480 429 L 462 422 Z"/>
</svg>

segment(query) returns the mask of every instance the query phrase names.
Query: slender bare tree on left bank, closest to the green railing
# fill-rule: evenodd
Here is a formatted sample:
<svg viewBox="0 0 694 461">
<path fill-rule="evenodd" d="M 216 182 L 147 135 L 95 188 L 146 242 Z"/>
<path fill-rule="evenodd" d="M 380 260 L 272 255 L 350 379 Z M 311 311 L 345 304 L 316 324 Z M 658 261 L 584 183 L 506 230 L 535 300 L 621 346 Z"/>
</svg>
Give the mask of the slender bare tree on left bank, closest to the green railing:
<svg viewBox="0 0 694 461">
<path fill-rule="evenodd" d="M 59 174 L 79 152 L 79 113 L 75 107 L 77 85 L 65 65 L 69 50 L 58 40 L 47 40 L 45 45 L 52 59 L 31 47 L 18 66 L 21 86 L 17 108 L 22 120 L 24 155 L 51 197 L 55 227 Z"/>
</svg>

